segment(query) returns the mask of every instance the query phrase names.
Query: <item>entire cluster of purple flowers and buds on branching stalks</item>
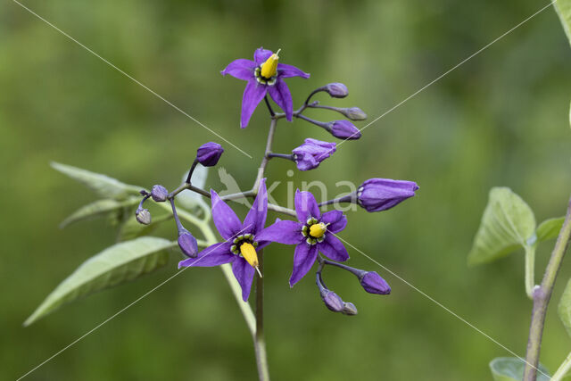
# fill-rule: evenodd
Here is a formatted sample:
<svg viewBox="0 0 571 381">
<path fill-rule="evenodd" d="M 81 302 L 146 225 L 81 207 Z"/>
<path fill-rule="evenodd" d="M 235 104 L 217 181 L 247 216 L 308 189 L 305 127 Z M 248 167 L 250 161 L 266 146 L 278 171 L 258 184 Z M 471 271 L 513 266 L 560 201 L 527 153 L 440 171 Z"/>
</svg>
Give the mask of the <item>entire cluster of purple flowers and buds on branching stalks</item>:
<svg viewBox="0 0 571 381">
<path fill-rule="evenodd" d="M 358 107 L 338 108 L 321 105 L 318 101 L 311 102 L 313 95 L 321 92 L 333 98 L 343 98 L 349 94 L 342 83 L 330 83 L 313 90 L 302 106 L 294 111 L 294 102 L 289 87 L 284 79 L 301 77 L 308 79 L 309 74 L 292 66 L 279 62 L 279 51 L 273 53 L 267 49 L 259 48 L 253 54 L 253 61 L 238 59 L 228 64 L 221 71 L 222 75 L 231 75 L 237 79 L 247 81 L 242 100 L 242 114 L 240 127 L 245 128 L 251 120 L 252 113 L 265 101 L 271 120 L 268 147 L 273 139 L 273 128 L 277 120 L 285 118 L 292 121 L 294 118 L 305 120 L 311 124 L 324 128 L 333 137 L 355 140 L 361 137 L 360 130 L 350 120 L 364 120 L 367 115 Z M 283 113 L 274 112 L 269 97 L 283 110 Z M 327 109 L 339 112 L 349 120 L 319 121 L 305 116 L 303 112 L 308 109 Z M 186 255 L 178 267 L 212 267 L 230 263 L 232 271 L 242 287 L 242 297 L 248 300 L 252 281 L 256 274 L 262 276 L 260 255 L 261 250 L 272 243 L 294 245 L 293 270 L 289 285 L 293 287 L 302 277 L 310 272 L 316 262 L 319 263 L 316 272 L 316 284 L 319 295 L 327 309 L 354 315 L 357 309 L 351 302 L 343 302 L 338 294 L 328 289 L 323 280 L 323 269 L 334 266 L 352 273 L 360 281 L 363 289 L 370 294 L 390 294 L 391 287 L 377 272 L 355 269 L 341 262 L 349 259 L 349 253 L 343 244 L 343 238 L 338 234 L 347 226 L 347 217 L 342 211 L 332 210 L 322 212 L 320 208 L 331 203 L 356 203 L 366 211 L 385 211 L 398 203 L 415 195 L 418 189 L 412 181 L 392 180 L 385 178 L 371 178 L 365 181 L 358 190 L 336 200 L 318 203 L 310 192 L 300 191 L 294 195 L 295 210 L 290 211 L 278 205 L 269 204 L 268 191 L 264 171 L 270 159 L 280 158 L 294 162 L 298 170 L 314 170 L 325 159 L 335 153 L 337 145 L 320 141 L 311 137 L 305 139 L 302 145 L 294 148 L 291 153 L 272 153 L 267 149 L 264 161 L 258 171 L 258 178 L 252 190 L 242 194 L 244 197 L 253 197 L 252 208 L 248 211 L 244 221 L 238 218 L 223 197 L 214 190 L 206 192 L 192 185 L 193 171 L 196 165 L 214 166 L 219 162 L 222 147 L 216 143 L 206 143 L 198 148 L 196 157 L 188 172 L 186 183 L 169 193 L 164 186 L 153 186 L 150 193 L 142 191 L 143 200 L 137 208 L 137 220 L 141 223 L 150 223 L 151 215 L 143 208 L 143 203 L 149 198 L 157 203 L 170 201 L 172 212 L 178 228 L 178 245 Z M 211 198 L 211 216 L 222 240 L 216 244 L 198 250 L 194 236 L 182 226 L 178 219 L 175 206 L 176 195 L 181 190 L 194 190 L 205 197 Z M 271 208 L 270 208 L 271 207 Z M 266 226 L 269 209 L 281 211 L 288 217 L 295 219 L 276 219 Z"/>
</svg>

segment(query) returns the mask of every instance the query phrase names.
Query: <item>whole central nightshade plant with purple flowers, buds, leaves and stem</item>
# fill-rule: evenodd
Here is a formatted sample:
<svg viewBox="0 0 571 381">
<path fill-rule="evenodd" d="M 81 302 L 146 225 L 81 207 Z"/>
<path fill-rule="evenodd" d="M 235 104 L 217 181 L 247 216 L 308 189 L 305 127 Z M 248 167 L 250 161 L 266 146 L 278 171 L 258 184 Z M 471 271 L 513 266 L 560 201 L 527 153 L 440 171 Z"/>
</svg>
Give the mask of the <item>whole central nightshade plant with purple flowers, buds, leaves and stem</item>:
<svg viewBox="0 0 571 381">
<path fill-rule="evenodd" d="M 416 183 L 374 178 L 366 181 L 360 186 L 359 191 L 351 195 L 324 200 L 321 203 L 318 203 L 310 192 L 298 190 L 295 195 L 290 195 L 294 198 L 295 210 L 269 203 L 266 170 L 270 160 L 293 161 L 298 170 L 312 170 L 335 160 L 332 156 L 336 149 L 335 143 L 319 141 L 312 137 L 307 137 L 298 147 L 283 147 L 285 152 L 291 150 L 291 154 L 272 153 L 279 120 L 292 121 L 294 118 L 304 120 L 326 129 L 334 137 L 355 140 L 361 137 L 361 133 L 351 121 L 314 120 L 305 116 L 304 112 L 309 112 L 310 109 L 324 109 L 340 113 L 350 120 L 364 120 L 367 117 L 359 107 L 337 108 L 319 104 L 319 101 L 311 101 L 314 95 L 322 93 L 327 93 L 333 99 L 347 96 L 349 94 L 347 87 L 338 82 L 317 87 L 294 111 L 292 95 L 284 79 L 290 77 L 308 79 L 310 75 L 294 66 L 279 63 L 278 53 L 279 51 L 274 54 L 269 50 L 259 48 L 254 53 L 253 61 L 238 59 L 222 70 L 223 75 L 229 74 L 247 81 L 240 117 L 242 128 L 248 125 L 252 112 L 262 99 L 265 100 L 269 112 L 268 139 L 260 165 L 252 166 L 252 169 L 257 171 L 257 176 L 250 190 L 220 196 L 214 189 L 208 191 L 203 188 L 204 183 L 200 179 L 203 177 L 194 176 L 199 164 L 203 167 L 213 167 L 219 163 L 224 149 L 216 142 L 208 142 L 197 148 L 183 184 L 171 192 L 161 185 L 154 185 L 149 192 L 137 186 L 122 184 L 114 179 L 110 182 L 109 178 L 101 175 L 90 172 L 87 175 L 87 171 L 84 170 L 71 169 L 71 167 L 62 165 L 56 166 L 58 170 L 62 170 L 71 177 L 80 178 L 83 182 L 88 182 L 86 178 L 95 182 L 96 184 L 91 184 L 91 186 L 101 189 L 100 194 L 109 199 L 103 200 L 105 212 L 113 211 L 119 215 L 120 211 L 128 210 L 127 214 L 132 219 L 132 211 L 138 203 L 135 210 L 136 219 L 146 226 L 137 230 L 133 229 L 129 220 L 118 221 L 119 239 L 122 242 L 101 253 L 100 255 L 103 256 L 101 263 L 97 262 L 97 257 L 95 257 L 72 274 L 72 277 L 87 277 L 87 280 L 84 279 L 78 283 L 83 285 L 82 288 L 69 290 L 64 297 L 58 296 L 61 294 L 61 289 L 56 289 L 54 293 L 57 295 L 50 295 L 27 320 L 27 324 L 53 310 L 62 302 L 69 302 L 91 290 L 114 286 L 121 281 L 130 280 L 167 264 L 166 250 L 178 247 L 180 253 L 184 255 L 184 259 L 178 264 L 181 271 L 192 267 L 219 267 L 224 272 L 252 333 L 258 372 L 260 379 L 265 381 L 269 380 L 269 369 L 263 338 L 263 282 L 265 277 L 263 261 L 264 251 L 268 251 L 272 243 L 294 245 L 294 248 L 286 250 L 291 258 L 288 261 L 294 262 L 289 279 L 290 287 L 299 282 L 312 269 L 316 261 L 319 263 L 315 273 L 318 294 L 330 311 L 348 316 L 357 314 L 357 308 L 352 302 L 344 302 L 338 294 L 325 285 L 323 277 L 327 267 L 352 273 L 368 293 L 389 294 L 391 292 L 385 279 L 376 272 L 355 269 L 340 263 L 349 259 L 345 245 L 337 237 L 337 234 L 347 226 L 347 216 L 343 211 L 335 210 L 335 208 L 327 211 L 327 205 L 336 202 L 359 203 L 367 211 L 384 211 L 414 195 L 418 189 Z M 284 111 L 283 113 L 274 112 L 267 95 Z M 331 159 L 324 162 L 327 158 Z M 169 165 L 172 166 L 172 163 Z M 188 163 L 184 164 L 185 167 L 186 165 Z M 189 202 L 187 198 L 182 197 L 182 192 L 194 192 L 196 195 L 210 198 L 211 207 L 195 199 Z M 241 221 L 226 202 L 235 200 L 244 202 L 244 199 L 253 200 L 253 203 L 244 221 Z M 144 207 L 145 203 L 152 201 L 155 204 L 150 208 L 163 211 L 161 214 L 160 211 L 153 210 L 153 213 L 158 212 L 153 219 L 151 219 L 151 211 Z M 167 214 L 164 214 L 164 211 L 167 211 Z M 276 219 L 274 224 L 266 227 L 269 211 L 285 215 L 288 219 Z M 102 211 L 95 209 L 94 213 L 101 214 Z M 297 220 L 293 220 L 295 218 Z M 153 228 L 169 219 L 174 219 L 176 223 L 177 235 L 172 237 L 176 239 L 148 236 Z M 183 220 L 186 227 L 183 225 Z M 215 235 L 211 220 L 220 237 Z M 199 248 L 203 250 L 200 251 Z M 272 261 L 283 261 L 282 257 L 270 256 L 268 258 Z M 97 264 L 96 270 L 90 269 L 94 263 Z M 102 267 L 107 269 L 105 277 L 101 276 Z M 94 274 L 97 277 L 94 277 Z M 247 302 L 252 299 L 249 297 L 254 278 L 256 278 L 255 315 Z M 63 288 L 67 286 L 65 282 L 62 285 Z"/>
</svg>

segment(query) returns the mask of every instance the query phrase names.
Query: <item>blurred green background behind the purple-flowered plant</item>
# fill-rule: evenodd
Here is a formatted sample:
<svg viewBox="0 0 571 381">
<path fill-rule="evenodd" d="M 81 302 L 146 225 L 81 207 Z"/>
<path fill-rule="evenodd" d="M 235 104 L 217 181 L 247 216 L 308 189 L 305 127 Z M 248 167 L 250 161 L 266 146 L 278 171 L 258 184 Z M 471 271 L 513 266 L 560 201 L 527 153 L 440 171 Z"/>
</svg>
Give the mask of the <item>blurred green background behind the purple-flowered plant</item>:
<svg viewBox="0 0 571 381">
<path fill-rule="evenodd" d="M 340 81 L 343 100 L 373 120 L 537 11 L 531 0 L 111 1 L 28 0 L 58 28 L 251 153 L 226 146 L 220 165 L 246 188 L 267 130 L 260 107 L 238 128 L 244 82 L 219 75 L 264 46 L 311 78 L 290 79 L 294 103 Z M 95 200 L 50 161 L 104 172 L 130 184 L 175 186 L 198 145 L 220 141 L 21 6 L 0 4 L 0 374 L 15 379 L 174 274 L 169 266 L 21 323 L 54 287 L 114 242 L 105 219 L 59 229 Z M 360 184 L 415 180 L 418 196 L 383 213 L 352 212 L 343 238 L 501 344 L 525 353 L 531 302 L 524 258 L 469 269 L 466 256 L 491 186 L 510 186 L 542 220 L 564 214 L 571 190 L 568 126 L 571 50 L 548 9 L 343 144 L 302 181 Z M 322 120 L 337 119 L 310 111 Z M 359 127 L 365 125 L 360 122 Z M 278 125 L 276 151 L 304 137 L 332 141 L 302 120 Z M 271 162 L 274 196 L 286 203 L 289 162 Z M 212 171 L 209 186 L 220 183 Z M 344 189 L 343 189 L 344 190 Z M 239 209 L 239 208 L 238 208 Z M 239 209 L 244 213 L 244 209 Z M 242 214 L 244 215 L 244 214 Z M 275 218 L 271 215 L 270 218 Z M 174 226 L 161 230 L 174 237 Z M 538 254 L 539 271 L 550 244 Z M 266 336 L 274 380 L 483 380 L 509 356 L 425 296 L 350 251 L 353 266 L 385 276 L 393 294 L 362 292 L 355 279 L 325 276 L 360 314 L 330 313 L 312 277 L 287 285 L 293 248 L 266 255 Z M 568 261 L 567 261 L 568 262 Z M 571 349 L 555 313 L 542 362 L 553 372 Z M 252 380 L 252 343 L 217 269 L 194 269 L 138 302 L 32 373 L 34 380 Z"/>
</svg>

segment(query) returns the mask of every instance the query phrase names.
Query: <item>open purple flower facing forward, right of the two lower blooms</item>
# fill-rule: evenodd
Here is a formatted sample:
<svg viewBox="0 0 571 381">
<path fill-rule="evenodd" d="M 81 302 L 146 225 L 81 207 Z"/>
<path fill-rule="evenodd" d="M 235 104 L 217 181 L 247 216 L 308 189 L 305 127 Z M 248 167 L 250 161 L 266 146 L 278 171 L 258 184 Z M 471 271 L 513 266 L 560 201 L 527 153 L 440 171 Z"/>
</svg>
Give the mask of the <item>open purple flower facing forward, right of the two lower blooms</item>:
<svg viewBox="0 0 571 381">
<path fill-rule="evenodd" d="M 294 271 L 289 285 L 294 286 L 313 266 L 318 252 L 333 261 L 347 261 L 349 254 L 335 233 L 347 225 L 341 211 L 327 211 L 321 215 L 318 203 L 310 192 L 295 193 L 295 211 L 300 222 L 277 220 L 265 228 L 258 239 L 280 244 L 296 244 Z"/>
</svg>

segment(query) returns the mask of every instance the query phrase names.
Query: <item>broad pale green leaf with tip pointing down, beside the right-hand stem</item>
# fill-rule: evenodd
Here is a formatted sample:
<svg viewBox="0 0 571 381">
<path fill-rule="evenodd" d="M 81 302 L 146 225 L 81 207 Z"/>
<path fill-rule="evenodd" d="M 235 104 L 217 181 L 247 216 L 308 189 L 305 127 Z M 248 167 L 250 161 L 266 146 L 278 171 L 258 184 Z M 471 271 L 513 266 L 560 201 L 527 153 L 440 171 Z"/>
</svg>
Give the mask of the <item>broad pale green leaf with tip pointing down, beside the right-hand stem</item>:
<svg viewBox="0 0 571 381">
<path fill-rule="evenodd" d="M 494 187 L 468 254 L 468 263 L 476 265 L 497 260 L 528 245 L 534 232 L 534 212 L 529 205 L 508 187 Z"/>
</svg>

